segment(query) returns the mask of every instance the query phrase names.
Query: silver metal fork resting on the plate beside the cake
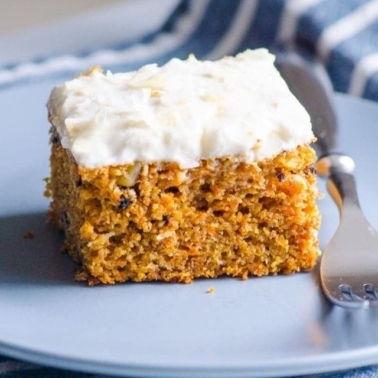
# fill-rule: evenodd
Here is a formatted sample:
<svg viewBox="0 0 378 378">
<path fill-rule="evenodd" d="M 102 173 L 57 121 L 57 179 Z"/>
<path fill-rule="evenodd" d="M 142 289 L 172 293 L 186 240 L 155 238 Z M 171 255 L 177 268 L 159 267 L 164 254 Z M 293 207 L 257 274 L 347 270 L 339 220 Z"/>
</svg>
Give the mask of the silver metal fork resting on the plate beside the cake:
<svg viewBox="0 0 378 378">
<path fill-rule="evenodd" d="M 323 251 L 320 282 L 326 297 L 344 308 L 378 306 L 378 233 L 362 213 L 354 161 L 337 152 L 337 118 L 329 78 L 320 65 L 296 53 L 277 55 L 277 68 L 306 108 L 317 138 L 319 176 L 340 212 L 339 226 Z"/>
</svg>

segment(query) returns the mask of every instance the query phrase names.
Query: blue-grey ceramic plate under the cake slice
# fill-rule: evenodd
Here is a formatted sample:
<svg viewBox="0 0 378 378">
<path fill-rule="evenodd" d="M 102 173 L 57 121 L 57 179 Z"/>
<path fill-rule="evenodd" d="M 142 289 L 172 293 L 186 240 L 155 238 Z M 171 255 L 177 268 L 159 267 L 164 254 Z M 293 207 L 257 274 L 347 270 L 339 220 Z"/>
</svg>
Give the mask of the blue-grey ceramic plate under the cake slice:
<svg viewBox="0 0 378 378">
<path fill-rule="evenodd" d="M 282 377 L 378 363 L 378 312 L 324 299 L 318 273 L 87 287 L 46 223 L 45 103 L 55 83 L 0 93 L 0 353 L 141 377 Z M 343 150 L 378 228 L 378 105 L 337 96 Z M 324 190 L 324 183 L 319 183 Z M 320 203 L 324 246 L 338 223 Z M 28 231 L 34 238 L 24 238 Z M 209 287 L 215 292 L 207 293 Z"/>
</svg>

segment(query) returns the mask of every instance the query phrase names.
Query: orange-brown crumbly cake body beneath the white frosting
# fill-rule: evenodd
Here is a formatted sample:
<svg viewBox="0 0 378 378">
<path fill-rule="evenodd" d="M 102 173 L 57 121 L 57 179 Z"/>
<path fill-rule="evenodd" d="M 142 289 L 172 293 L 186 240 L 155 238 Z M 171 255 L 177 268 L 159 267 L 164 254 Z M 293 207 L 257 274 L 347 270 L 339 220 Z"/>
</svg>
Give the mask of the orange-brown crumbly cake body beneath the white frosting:
<svg viewBox="0 0 378 378">
<path fill-rule="evenodd" d="M 290 274 L 319 256 L 315 152 L 87 168 L 52 128 L 50 219 L 89 284 Z"/>
</svg>

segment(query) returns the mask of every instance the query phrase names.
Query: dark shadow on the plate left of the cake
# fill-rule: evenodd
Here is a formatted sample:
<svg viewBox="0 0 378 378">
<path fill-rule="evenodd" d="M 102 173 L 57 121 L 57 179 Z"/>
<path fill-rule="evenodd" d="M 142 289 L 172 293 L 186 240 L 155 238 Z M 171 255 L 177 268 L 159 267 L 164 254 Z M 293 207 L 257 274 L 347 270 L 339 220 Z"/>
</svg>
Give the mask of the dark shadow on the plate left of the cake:
<svg viewBox="0 0 378 378">
<path fill-rule="evenodd" d="M 0 285 L 74 284 L 77 266 L 60 253 L 62 244 L 45 212 L 0 218 Z"/>
</svg>

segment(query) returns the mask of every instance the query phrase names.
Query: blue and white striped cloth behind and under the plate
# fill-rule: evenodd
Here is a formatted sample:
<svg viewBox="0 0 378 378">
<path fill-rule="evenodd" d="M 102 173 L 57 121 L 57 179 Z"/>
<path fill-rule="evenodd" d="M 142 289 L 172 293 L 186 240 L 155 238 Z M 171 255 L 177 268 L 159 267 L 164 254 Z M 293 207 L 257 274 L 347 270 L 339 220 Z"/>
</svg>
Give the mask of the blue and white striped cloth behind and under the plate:
<svg viewBox="0 0 378 378">
<path fill-rule="evenodd" d="M 0 66 L 0 89 L 64 80 L 93 65 L 117 72 L 189 53 L 217 59 L 246 48 L 282 46 L 317 58 L 336 91 L 378 101 L 378 0 L 181 0 L 162 27 L 139 40 Z M 0 357 L 0 378 L 11 377 L 94 375 Z M 378 367 L 317 377 L 372 378 L 378 377 Z"/>
</svg>

